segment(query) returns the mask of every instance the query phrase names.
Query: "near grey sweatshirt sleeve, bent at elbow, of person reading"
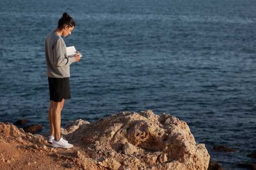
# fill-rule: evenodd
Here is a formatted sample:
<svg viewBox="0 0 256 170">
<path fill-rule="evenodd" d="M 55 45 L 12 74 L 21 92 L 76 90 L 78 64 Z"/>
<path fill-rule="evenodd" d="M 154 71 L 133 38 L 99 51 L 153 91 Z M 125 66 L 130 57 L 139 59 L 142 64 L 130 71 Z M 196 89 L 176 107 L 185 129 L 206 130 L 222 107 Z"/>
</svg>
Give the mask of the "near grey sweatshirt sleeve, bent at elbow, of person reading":
<svg viewBox="0 0 256 170">
<path fill-rule="evenodd" d="M 75 57 L 65 57 L 64 44 L 60 38 L 55 42 L 53 47 L 54 64 L 58 67 L 70 65 L 75 62 Z"/>
</svg>

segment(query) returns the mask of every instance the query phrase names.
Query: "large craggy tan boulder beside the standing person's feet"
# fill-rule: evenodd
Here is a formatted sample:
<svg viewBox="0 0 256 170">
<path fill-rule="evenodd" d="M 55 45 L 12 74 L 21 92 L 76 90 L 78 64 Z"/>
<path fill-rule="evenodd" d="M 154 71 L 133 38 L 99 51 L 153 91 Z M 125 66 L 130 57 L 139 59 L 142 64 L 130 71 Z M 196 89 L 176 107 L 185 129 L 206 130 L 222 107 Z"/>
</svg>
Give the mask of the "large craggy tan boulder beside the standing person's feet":
<svg viewBox="0 0 256 170">
<path fill-rule="evenodd" d="M 146 166 L 150 170 L 207 170 L 209 165 L 205 145 L 196 144 L 186 122 L 165 113 L 120 112 L 81 126 L 69 135 L 85 146 L 95 144 L 98 155 L 114 150 L 112 157 L 118 157 L 122 166 L 131 170 Z M 135 157 L 134 152 L 141 157 Z M 158 156 L 163 163 L 157 164 Z"/>
</svg>

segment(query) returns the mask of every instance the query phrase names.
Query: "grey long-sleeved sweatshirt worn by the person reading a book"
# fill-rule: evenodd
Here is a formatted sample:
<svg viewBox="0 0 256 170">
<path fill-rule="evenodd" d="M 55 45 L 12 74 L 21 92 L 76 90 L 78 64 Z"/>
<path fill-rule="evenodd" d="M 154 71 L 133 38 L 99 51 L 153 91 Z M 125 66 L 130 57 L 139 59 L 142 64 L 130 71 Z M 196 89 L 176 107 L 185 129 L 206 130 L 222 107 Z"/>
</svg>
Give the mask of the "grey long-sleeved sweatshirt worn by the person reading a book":
<svg viewBox="0 0 256 170">
<path fill-rule="evenodd" d="M 75 62 L 75 57 L 67 57 L 66 44 L 55 32 L 45 39 L 45 59 L 48 77 L 70 77 L 70 64 Z"/>
</svg>

